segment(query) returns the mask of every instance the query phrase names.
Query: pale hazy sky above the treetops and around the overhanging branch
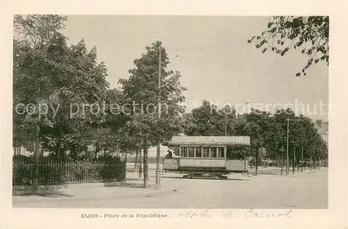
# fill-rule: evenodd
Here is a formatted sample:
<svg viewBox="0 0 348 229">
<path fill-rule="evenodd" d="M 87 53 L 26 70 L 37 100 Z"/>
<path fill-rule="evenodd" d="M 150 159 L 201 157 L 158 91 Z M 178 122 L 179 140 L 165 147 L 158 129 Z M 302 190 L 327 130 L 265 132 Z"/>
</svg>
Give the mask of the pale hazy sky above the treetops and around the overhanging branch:
<svg viewBox="0 0 348 229">
<path fill-rule="evenodd" d="M 261 53 L 247 40 L 267 29 L 268 17 L 70 15 L 63 31 L 70 44 L 84 38 L 105 62 L 106 80 L 119 87 L 145 46 L 160 40 L 168 69 L 180 71 L 187 111 L 203 100 L 219 108 L 230 104 L 239 113 L 250 108 L 273 112 L 285 106 L 313 119 L 327 120 L 329 67 L 319 63 L 296 77 L 307 57 L 299 49 L 285 56 Z M 250 101 L 248 105 L 240 104 Z M 278 103 L 278 104 L 276 104 Z M 301 105 L 302 104 L 302 105 Z"/>
</svg>

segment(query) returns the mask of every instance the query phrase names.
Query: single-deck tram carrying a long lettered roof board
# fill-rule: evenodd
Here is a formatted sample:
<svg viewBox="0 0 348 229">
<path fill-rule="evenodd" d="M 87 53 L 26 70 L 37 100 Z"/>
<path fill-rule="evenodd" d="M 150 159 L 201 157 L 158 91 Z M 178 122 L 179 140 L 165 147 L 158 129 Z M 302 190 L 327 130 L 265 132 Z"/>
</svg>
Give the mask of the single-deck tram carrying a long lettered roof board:
<svg viewBox="0 0 348 229">
<path fill-rule="evenodd" d="M 248 157 L 234 158 L 233 151 L 228 150 L 234 146 L 250 146 L 248 136 L 175 136 L 166 144 L 179 157 L 164 158 L 165 171 L 187 173 L 190 177 L 248 172 Z"/>
</svg>

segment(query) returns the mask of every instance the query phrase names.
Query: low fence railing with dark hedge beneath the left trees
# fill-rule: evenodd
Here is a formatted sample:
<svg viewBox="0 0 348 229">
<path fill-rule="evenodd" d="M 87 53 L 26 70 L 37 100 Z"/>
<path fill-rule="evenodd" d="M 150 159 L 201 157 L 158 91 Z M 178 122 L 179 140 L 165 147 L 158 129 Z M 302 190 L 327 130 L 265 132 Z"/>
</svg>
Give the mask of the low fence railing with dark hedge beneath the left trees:
<svg viewBox="0 0 348 229">
<path fill-rule="evenodd" d="M 125 180 L 125 162 L 40 162 L 38 185 L 97 183 Z M 33 185 L 35 164 L 13 164 L 13 185 Z"/>
</svg>

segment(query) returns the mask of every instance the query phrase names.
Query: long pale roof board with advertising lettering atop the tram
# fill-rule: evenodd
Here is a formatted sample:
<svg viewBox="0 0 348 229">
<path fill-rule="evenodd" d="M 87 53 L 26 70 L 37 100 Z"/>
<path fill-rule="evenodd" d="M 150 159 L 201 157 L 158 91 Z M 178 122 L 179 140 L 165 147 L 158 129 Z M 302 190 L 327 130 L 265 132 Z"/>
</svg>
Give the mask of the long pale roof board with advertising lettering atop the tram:
<svg viewBox="0 0 348 229">
<path fill-rule="evenodd" d="M 174 136 L 171 141 L 168 142 L 168 146 L 179 145 L 250 145 L 249 136 Z"/>
</svg>

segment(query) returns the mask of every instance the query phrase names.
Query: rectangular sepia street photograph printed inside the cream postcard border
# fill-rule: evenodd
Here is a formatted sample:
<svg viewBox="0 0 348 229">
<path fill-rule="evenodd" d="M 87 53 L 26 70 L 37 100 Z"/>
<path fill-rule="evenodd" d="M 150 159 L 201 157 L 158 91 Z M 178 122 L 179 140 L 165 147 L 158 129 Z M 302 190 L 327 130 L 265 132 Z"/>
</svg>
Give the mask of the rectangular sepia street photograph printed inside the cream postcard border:
<svg viewBox="0 0 348 229">
<path fill-rule="evenodd" d="M 328 15 L 14 15 L 12 205 L 328 210 L 331 105 Z"/>
</svg>

